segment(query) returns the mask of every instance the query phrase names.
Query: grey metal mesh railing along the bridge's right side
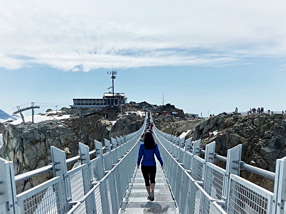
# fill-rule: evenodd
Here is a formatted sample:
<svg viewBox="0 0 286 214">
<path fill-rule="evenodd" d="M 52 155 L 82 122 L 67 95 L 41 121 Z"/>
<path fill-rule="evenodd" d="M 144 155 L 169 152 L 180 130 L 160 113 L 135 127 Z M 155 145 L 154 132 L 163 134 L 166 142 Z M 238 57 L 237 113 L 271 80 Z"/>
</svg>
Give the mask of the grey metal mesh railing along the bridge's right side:
<svg viewBox="0 0 286 214">
<path fill-rule="evenodd" d="M 229 149 L 226 158 L 215 153 L 215 142 L 207 144 L 206 150 L 200 149 L 200 140 L 192 145 L 191 139 L 180 140 L 178 146 L 176 136 L 156 126 L 153 131 L 168 163 L 165 173 L 180 213 L 286 213 L 286 157 L 277 160 L 273 173 L 241 161 L 241 145 Z M 226 169 L 213 164 L 215 158 L 226 162 Z M 241 169 L 275 180 L 274 192 L 239 177 Z"/>
</svg>

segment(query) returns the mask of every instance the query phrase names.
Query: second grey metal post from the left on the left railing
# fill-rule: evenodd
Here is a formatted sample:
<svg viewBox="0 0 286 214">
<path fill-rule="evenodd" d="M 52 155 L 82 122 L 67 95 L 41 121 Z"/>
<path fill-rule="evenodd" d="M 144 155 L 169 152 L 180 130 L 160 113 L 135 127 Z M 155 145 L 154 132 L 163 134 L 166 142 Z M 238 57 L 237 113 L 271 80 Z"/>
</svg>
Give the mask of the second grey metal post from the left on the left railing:
<svg viewBox="0 0 286 214">
<path fill-rule="evenodd" d="M 71 209 L 71 205 L 69 204 L 69 201 L 72 200 L 72 188 L 71 188 L 71 182 L 70 178 L 67 174 L 67 163 L 65 158 L 65 152 L 63 150 L 60 150 L 56 148 L 55 146 L 51 146 L 51 156 L 52 156 L 52 163 L 53 163 L 53 176 L 63 176 L 63 185 L 64 190 L 63 194 L 65 194 L 65 210 Z M 58 192 L 56 192 L 56 195 Z M 57 200 L 59 199 L 59 196 L 57 195 Z M 57 204 L 59 204 L 59 201 L 57 201 Z M 61 209 L 57 209 L 57 213 L 61 213 Z"/>
</svg>

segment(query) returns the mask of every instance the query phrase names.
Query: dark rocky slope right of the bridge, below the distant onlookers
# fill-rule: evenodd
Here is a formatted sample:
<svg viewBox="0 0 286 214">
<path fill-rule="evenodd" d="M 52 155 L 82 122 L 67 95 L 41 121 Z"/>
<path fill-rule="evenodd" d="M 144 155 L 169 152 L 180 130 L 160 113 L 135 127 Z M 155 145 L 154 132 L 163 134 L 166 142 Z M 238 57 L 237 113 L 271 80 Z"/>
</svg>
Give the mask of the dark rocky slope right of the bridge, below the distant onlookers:
<svg viewBox="0 0 286 214">
<path fill-rule="evenodd" d="M 215 141 L 215 151 L 223 156 L 227 156 L 228 149 L 242 144 L 242 161 L 272 172 L 275 172 L 276 159 L 286 156 L 286 121 L 282 115 L 220 114 L 207 120 L 167 122 L 166 125 L 161 121 L 163 119 L 158 118 L 156 124 L 169 134 L 179 136 L 190 130 L 186 139 L 190 136 L 193 140 L 201 139 L 202 148 Z M 225 167 L 224 163 L 217 164 Z M 241 171 L 241 176 L 273 191 L 273 181 L 248 171 Z"/>
</svg>

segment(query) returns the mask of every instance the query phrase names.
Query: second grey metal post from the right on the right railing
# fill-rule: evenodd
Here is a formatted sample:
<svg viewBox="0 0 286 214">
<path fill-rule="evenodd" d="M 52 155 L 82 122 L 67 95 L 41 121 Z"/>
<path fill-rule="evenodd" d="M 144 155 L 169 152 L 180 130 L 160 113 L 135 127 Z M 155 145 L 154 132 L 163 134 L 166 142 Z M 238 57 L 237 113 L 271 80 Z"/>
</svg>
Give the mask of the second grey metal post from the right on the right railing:
<svg viewBox="0 0 286 214">
<path fill-rule="evenodd" d="M 228 210 L 228 200 L 229 200 L 229 188 L 230 188 L 230 174 L 235 174 L 239 176 L 240 172 L 240 162 L 241 162 L 241 150 L 242 144 L 239 144 L 229 150 L 227 150 L 227 165 L 226 165 L 226 175 L 225 184 L 223 187 L 223 196 L 225 198 L 225 211 Z"/>
</svg>

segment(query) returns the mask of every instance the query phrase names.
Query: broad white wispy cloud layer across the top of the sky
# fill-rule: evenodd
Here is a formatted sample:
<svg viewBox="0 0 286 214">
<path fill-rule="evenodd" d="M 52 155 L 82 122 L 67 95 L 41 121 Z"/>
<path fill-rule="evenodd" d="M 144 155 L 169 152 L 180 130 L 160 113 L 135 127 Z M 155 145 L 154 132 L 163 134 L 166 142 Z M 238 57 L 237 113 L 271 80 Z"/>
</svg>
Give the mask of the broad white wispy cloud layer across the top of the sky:
<svg viewBox="0 0 286 214">
<path fill-rule="evenodd" d="M 0 66 L 87 72 L 281 58 L 285 10 L 284 1 L 9 1 L 0 8 Z"/>
</svg>

